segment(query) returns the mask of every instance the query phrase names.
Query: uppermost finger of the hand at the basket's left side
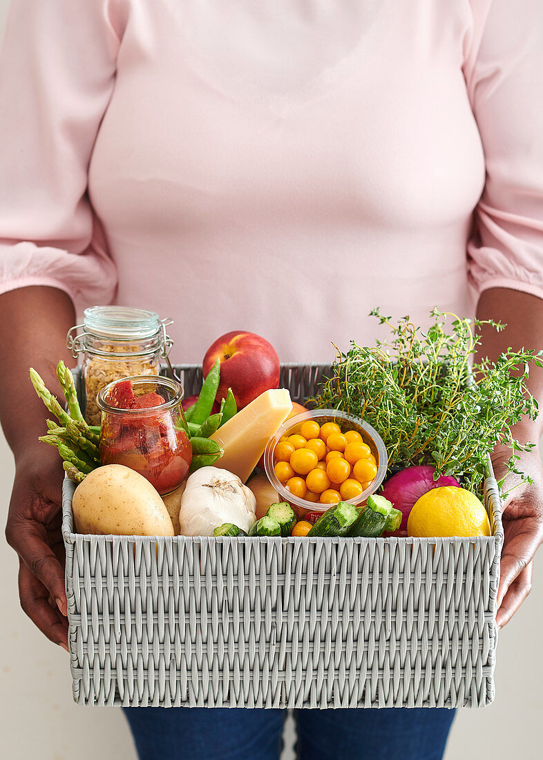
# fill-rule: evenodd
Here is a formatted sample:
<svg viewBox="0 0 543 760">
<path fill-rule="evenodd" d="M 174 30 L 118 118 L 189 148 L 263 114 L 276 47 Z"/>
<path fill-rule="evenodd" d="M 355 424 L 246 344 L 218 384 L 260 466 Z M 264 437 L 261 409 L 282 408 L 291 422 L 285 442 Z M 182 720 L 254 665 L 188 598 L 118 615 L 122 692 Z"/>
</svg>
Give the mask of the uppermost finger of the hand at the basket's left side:
<svg viewBox="0 0 543 760">
<path fill-rule="evenodd" d="M 64 587 L 64 571 L 55 553 L 46 542 L 46 527 L 39 522 L 24 519 L 14 529 L 6 531 L 8 543 L 35 575 L 41 587 L 45 587 L 58 605 L 63 616 L 68 614 Z M 46 597 L 47 599 L 47 597 Z"/>
</svg>

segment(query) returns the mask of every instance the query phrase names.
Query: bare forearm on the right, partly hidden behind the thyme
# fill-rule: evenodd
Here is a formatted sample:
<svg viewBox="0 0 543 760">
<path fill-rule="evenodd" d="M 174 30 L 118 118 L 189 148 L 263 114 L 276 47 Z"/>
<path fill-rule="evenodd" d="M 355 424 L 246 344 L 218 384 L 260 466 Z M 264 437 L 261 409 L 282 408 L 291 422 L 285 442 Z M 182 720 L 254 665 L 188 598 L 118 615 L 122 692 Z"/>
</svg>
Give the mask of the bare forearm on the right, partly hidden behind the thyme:
<svg viewBox="0 0 543 760">
<path fill-rule="evenodd" d="M 477 306 L 478 319 L 503 322 L 502 332 L 485 325 L 478 353 L 496 361 L 500 353 L 511 347 L 519 350 L 543 349 L 543 299 L 507 288 L 490 288 L 481 294 Z M 530 366 L 528 387 L 537 401 L 543 403 L 543 369 Z M 521 442 L 538 443 L 543 433 L 543 415 L 535 422 L 525 420 L 515 426 L 516 437 Z"/>
</svg>

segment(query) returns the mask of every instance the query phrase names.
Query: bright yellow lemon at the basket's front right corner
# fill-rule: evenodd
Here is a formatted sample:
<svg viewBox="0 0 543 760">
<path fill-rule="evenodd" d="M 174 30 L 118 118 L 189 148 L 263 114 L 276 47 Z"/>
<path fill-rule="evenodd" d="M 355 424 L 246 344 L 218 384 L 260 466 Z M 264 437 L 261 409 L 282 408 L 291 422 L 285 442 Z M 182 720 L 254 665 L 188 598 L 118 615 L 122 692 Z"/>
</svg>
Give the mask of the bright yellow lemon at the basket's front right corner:
<svg viewBox="0 0 543 760">
<path fill-rule="evenodd" d="M 471 491 L 458 486 L 434 488 L 415 502 L 407 521 L 408 536 L 490 536 L 485 505 Z"/>
</svg>

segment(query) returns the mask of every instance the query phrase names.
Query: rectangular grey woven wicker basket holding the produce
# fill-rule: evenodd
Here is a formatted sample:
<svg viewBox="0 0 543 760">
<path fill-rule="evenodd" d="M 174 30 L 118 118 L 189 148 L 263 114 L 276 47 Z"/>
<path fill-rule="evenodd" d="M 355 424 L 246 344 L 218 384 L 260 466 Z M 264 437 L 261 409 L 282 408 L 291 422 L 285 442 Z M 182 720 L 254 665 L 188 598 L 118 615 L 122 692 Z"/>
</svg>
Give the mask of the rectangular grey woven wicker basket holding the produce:
<svg viewBox="0 0 543 760">
<path fill-rule="evenodd" d="M 200 368 L 178 371 L 187 394 L 200 387 Z M 284 366 L 282 385 L 303 401 L 326 374 Z M 494 698 L 503 532 L 491 471 L 488 538 L 80 535 L 73 492 L 65 480 L 81 705 L 453 708 Z"/>
</svg>

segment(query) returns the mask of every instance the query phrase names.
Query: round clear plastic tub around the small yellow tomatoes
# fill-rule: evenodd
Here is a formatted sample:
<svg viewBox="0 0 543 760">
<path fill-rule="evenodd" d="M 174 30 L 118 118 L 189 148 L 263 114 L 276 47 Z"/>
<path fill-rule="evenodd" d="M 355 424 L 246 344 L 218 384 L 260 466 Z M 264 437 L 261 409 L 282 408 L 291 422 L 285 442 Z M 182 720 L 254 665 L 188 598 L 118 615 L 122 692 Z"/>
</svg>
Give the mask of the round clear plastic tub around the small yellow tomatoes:
<svg viewBox="0 0 543 760">
<path fill-rule="evenodd" d="M 300 499 L 298 496 L 295 496 L 279 481 L 273 467 L 273 450 L 276 447 L 276 444 L 281 438 L 283 438 L 283 435 L 293 435 L 294 433 L 298 433 L 300 431 L 301 423 L 304 423 L 305 420 L 316 420 L 319 425 L 333 422 L 339 425 L 342 432 L 346 432 L 347 430 L 358 430 L 362 439 L 364 439 L 364 442 L 371 448 L 371 453 L 374 455 L 377 464 L 377 474 L 368 488 L 365 489 L 360 496 L 356 496 L 355 499 L 349 499 L 347 503 L 358 505 L 365 502 L 365 500 L 368 499 L 368 496 L 371 496 L 372 493 L 376 492 L 380 484 L 383 483 L 384 477 L 387 473 L 387 449 L 385 448 L 383 439 L 380 437 L 377 430 L 372 428 L 371 425 L 368 425 L 368 423 L 361 420 L 359 417 L 335 409 L 314 409 L 309 412 L 298 414 L 295 417 L 291 417 L 283 423 L 279 430 L 277 430 L 276 434 L 268 441 L 266 451 L 264 452 L 264 468 L 268 480 L 272 483 L 273 488 L 276 489 L 280 499 L 284 502 L 289 502 L 298 517 L 305 515 L 305 512 L 308 511 L 325 512 L 332 506 L 331 504 L 320 504 L 320 502 L 309 502 L 307 499 Z"/>
</svg>

